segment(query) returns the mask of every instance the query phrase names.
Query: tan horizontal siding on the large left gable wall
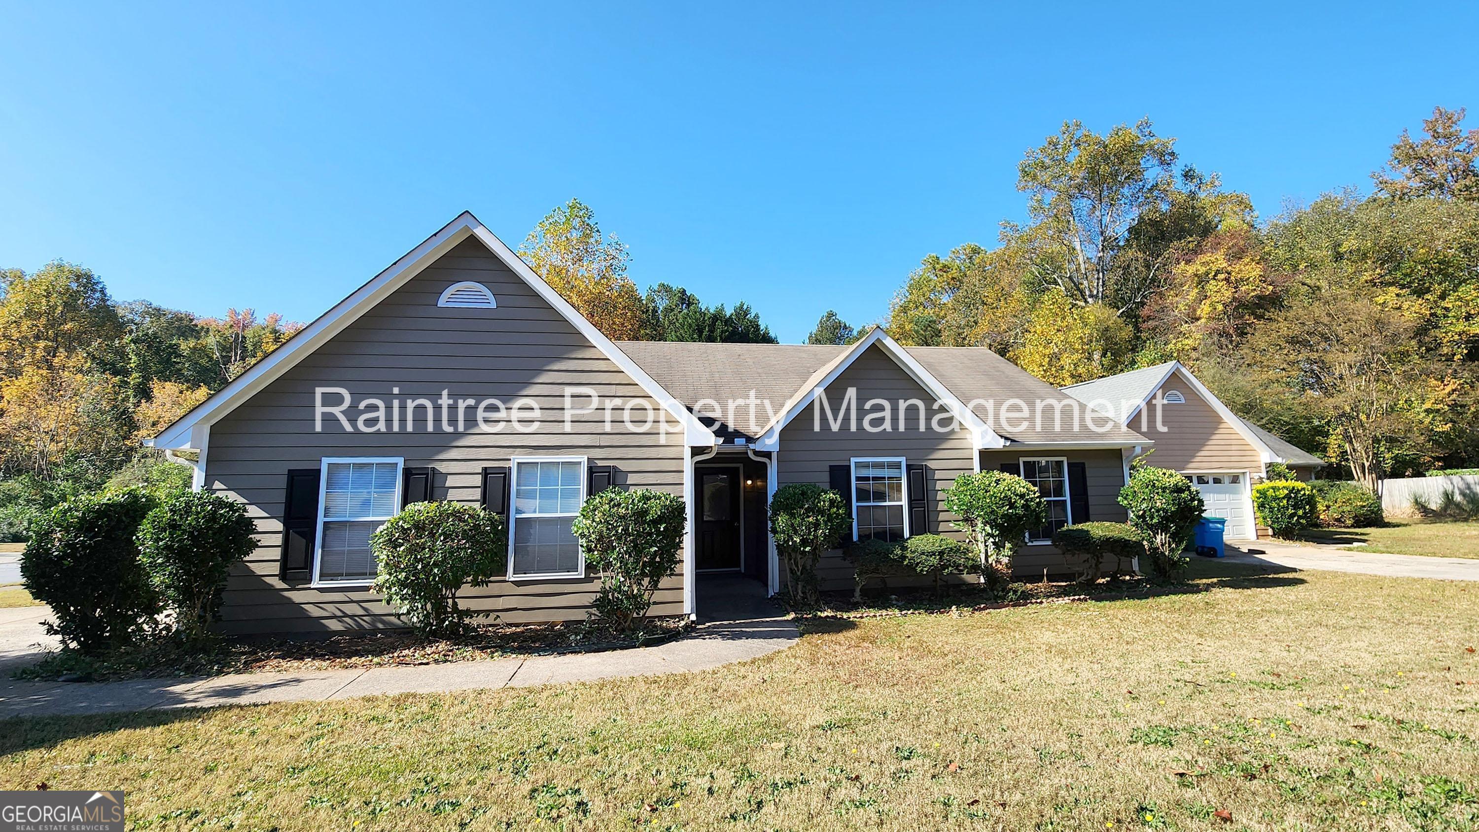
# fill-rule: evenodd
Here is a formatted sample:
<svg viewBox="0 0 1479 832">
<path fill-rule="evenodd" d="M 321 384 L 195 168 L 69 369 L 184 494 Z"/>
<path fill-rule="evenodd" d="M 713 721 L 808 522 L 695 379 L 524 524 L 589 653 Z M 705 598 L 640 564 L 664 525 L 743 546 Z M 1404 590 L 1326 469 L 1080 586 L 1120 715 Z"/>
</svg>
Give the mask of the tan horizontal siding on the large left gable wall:
<svg viewBox="0 0 1479 832">
<path fill-rule="evenodd" d="M 441 309 L 436 299 L 453 282 L 478 281 L 493 291 L 493 310 Z M 522 279 L 479 242 L 469 239 L 432 267 L 396 290 L 370 313 L 306 356 L 282 377 L 211 426 L 207 452 L 207 488 L 246 502 L 257 525 L 257 548 L 232 565 L 226 584 L 222 630 L 229 632 L 309 632 L 399 627 L 399 621 L 373 593 L 287 585 L 278 581 L 281 514 L 287 471 L 317 468 L 324 457 L 402 457 L 408 467 L 432 467 L 435 499 L 476 502 L 487 466 L 507 466 L 521 455 L 584 455 L 592 464 L 615 466 L 617 482 L 627 488 L 683 491 L 682 432 L 632 433 L 614 412 L 612 430 L 603 414 L 574 415 L 565 426 L 565 387 L 592 387 L 602 398 L 642 400 L 654 414 L 660 406 L 626 372 L 549 306 Z M 475 408 L 466 409 L 467 433 L 420 430 L 399 433 L 345 432 L 333 415 L 322 433 L 314 429 L 314 389 L 345 387 L 353 405 L 345 411 L 352 424 L 365 396 L 399 393 L 405 429 L 405 400 L 435 399 L 445 389 L 451 399 L 497 398 L 512 403 L 532 398 L 540 405 L 540 429 L 519 433 L 504 423 L 495 433 L 476 427 Z M 337 396 L 325 399 L 337 403 Z M 584 406 L 587 399 L 574 399 Z M 623 403 L 624 403 L 623 402 Z M 389 400 L 387 400 L 389 403 Z M 456 424 L 456 405 L 448 408 Z M 633 415 L 645 412 L 640 406 Z M 676 421 L 669 418 L 676 429 Z M 495 610 L 501 621 L 566 621 L 586 616 L 599 581 L 575 579 L 495 581 L 466 591 L 466 606 Z M 673 576 L 658 593 L 655 615 L 682 612 L 682 578 Z"/>
</svg>

